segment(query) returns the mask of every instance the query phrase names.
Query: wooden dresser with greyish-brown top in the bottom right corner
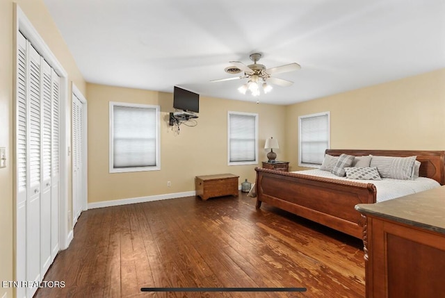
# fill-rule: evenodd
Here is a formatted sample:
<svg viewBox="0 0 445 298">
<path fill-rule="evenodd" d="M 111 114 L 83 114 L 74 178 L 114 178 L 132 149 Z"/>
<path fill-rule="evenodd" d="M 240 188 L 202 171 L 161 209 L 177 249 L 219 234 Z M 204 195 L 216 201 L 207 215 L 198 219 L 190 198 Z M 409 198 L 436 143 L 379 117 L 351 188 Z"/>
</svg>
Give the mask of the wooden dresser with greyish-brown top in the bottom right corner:
<svg viewBox="0 0 445 298">
<path fill-rule="evenodd" d="M 445 186 L 355 208 L 366 216 L 366 297 L 444 297 Z"/>
</svg>

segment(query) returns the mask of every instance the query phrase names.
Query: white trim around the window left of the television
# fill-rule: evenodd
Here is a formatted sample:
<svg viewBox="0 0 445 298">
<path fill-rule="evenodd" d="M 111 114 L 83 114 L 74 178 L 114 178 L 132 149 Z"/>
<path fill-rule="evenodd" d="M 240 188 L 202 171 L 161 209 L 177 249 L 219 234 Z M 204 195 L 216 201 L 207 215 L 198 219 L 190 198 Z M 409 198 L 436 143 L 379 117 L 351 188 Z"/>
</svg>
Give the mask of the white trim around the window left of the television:
<svg viewBox="0 0 445 298">
<path fill-rule="evenodd" d="M 124 169 L 115 169 L 113 166 L 113 107 L 124 106 L 128 108 L 154 108 L 156 109 L 156 165 L 150 167 L 126 167 Z M 161 169 L 161 125 L 160 125 L 160 106 L 147 104 L 129 104 L 124 102 L 110 101 L 109 104 L 109 172 L 110 173 L 126 173 L 126 172 L 147 172 L 159 171 Z"/>
</svg>

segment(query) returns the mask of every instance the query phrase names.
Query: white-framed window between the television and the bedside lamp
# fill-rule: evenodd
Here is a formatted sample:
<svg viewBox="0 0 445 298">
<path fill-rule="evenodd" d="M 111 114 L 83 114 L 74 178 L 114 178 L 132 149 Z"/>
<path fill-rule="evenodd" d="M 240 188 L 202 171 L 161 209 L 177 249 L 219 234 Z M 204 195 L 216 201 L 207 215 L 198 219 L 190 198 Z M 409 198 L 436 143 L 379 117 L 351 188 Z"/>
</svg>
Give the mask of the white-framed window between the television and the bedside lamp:
<svg viewBox="0 0 445 298">
<path fill-rule="evenodd" d="M 228 113 L 229 165 L 258 163 L 258 114 Z"/>
</svg>

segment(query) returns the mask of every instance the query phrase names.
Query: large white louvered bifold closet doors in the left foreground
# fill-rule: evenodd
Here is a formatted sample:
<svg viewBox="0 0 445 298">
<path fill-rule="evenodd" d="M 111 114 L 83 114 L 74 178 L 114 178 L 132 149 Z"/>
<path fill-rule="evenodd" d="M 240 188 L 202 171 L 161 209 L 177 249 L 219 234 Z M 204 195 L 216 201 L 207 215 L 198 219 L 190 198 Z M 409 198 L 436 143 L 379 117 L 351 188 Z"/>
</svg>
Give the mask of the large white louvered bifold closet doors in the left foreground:
<svg viewBox="0 0 445 298">
<path fill-rule="evenodd" d="M 17 281 L 41 281 L 58 245 L 59 80 L 22 34 L 17 49 Z M 17 288 L 32 297 L 37 288 Z"/>
</svg>

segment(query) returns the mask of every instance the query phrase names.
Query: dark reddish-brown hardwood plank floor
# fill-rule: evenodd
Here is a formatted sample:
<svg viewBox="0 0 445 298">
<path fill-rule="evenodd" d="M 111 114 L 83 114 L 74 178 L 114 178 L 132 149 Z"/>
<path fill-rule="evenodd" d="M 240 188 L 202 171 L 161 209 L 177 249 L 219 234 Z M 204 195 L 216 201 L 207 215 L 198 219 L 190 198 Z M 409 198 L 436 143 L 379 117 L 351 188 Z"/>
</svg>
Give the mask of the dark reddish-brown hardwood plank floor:
<svg viewBox="0 0 445 298">
<path fill-rule="evenodd" d="M 364 297 L 362 241 L 263 204 L 184 197 L 85 211 L 35 297 Z M 307 288 L 141 292 L 141 288 Z"/>
</svg>

